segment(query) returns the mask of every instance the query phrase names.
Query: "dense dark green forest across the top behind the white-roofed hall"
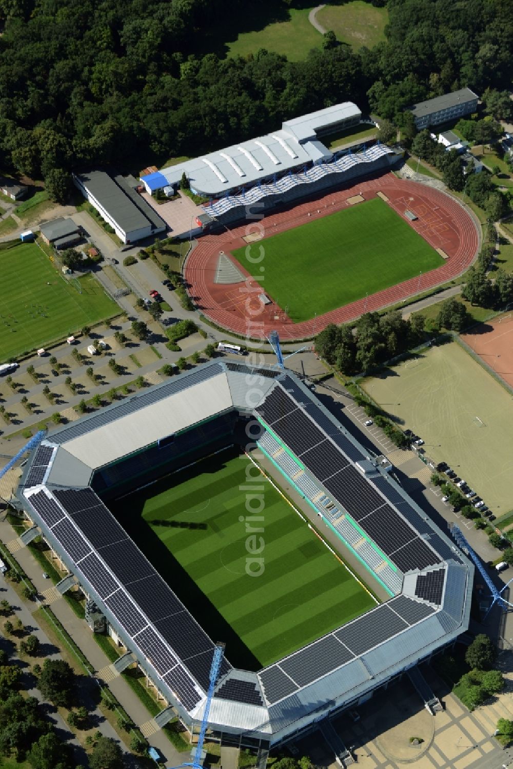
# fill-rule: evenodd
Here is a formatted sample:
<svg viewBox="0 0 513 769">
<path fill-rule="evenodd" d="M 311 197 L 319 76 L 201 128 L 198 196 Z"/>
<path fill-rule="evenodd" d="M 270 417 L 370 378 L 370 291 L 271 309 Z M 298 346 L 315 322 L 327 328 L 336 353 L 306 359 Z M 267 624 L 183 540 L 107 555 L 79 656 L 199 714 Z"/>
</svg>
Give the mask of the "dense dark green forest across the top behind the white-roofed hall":
<svg viewBox="0 0 513 769">
<path fill-rule="evenodd" d="M 271 19 L 305 4 L 258 5 Z M 511 85 L 507 0 L 388 0 L 388 12 L 372 50 L 288 62 L 205 53 L 228 22 L 242 28 L 245 0 L 0 0 L 0 162 L 62 188 L 78 165 L 197 154 L 345 99 L 401 124 L 418 98 Z"/>
</svg>

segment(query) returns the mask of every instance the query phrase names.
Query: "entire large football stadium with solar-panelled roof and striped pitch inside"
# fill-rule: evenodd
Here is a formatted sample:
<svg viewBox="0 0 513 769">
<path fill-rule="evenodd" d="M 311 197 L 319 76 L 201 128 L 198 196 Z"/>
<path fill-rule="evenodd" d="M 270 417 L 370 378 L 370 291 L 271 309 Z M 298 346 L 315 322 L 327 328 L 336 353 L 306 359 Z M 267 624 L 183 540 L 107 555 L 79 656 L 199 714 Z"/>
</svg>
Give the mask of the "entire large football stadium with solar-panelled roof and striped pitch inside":
<svg viewBox="0 0 513 769">
<path fill-rule="evenodd" d="M 208 726 L 262 766 L 468 628 L 465 555 L 278 367 L 210 361 L 65 425 L 16 499 L 22 544 L 42 534 L 57 590 L 80 584 L 92 629 L 125 647 L 116 670 L 162 697 L 155 728 L 178 714 L 197 734 L 226 644 Z"/>
</svg>

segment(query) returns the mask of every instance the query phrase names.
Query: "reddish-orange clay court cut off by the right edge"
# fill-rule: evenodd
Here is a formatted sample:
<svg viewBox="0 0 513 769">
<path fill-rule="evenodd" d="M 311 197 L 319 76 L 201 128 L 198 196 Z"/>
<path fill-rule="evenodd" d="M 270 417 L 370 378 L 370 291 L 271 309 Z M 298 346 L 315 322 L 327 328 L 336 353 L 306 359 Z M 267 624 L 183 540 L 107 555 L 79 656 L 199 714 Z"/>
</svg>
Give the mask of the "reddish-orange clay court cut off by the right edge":
<svg viewBox="0 0 513 769">
<path fill-rule="evenodd" d="M 494 321 L 481 323 L 461 339 L 513 388 L 513 314 L 506 313 Z"/>
</svg>

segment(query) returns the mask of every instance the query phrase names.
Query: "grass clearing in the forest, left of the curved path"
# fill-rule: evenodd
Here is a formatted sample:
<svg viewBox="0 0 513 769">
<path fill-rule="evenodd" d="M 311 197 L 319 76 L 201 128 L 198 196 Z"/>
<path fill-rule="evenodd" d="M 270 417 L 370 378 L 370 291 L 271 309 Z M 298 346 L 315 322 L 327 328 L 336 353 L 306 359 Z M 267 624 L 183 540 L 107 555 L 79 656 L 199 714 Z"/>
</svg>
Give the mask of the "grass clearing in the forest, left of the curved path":
<svg viewBox="0 0 513 769">
<path fill-rule="evenodd" d="M 258 48 L 267 48 L 268 51 L 286 56 L 291 62 L 301 61 L 311 48 L 320 48 L 324 39 L 308 21 L 310 10 L 290 8 L 288 20 L 271 22 L 262 29 L 256 28 L 254 32 L 242 32 L 235 41 L 227 43 L 228 55 L 247 56 L 256 53 Z"/>
</svg>

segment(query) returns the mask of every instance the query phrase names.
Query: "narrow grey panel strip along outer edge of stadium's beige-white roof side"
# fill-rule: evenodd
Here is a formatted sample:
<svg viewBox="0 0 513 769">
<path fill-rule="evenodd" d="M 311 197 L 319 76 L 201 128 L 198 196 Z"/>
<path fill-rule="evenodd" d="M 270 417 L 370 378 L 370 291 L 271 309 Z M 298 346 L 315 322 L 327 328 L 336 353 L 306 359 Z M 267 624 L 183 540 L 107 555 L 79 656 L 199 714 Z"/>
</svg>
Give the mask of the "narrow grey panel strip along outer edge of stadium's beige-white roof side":
<svg viewBox="0 0 513 769">
<path fill-rule="evenodd" d="M 158 388 L 155 388 L 155 390 L 141 395 L 134 395 L 132 398 L 128 398 L 122 404 L 118 404 L 114 408 L 109 408 L 107 411 L 103 411 L 92 418 L 85 419 L 84 421 L 78 422 L 78 424 L 72 425 L 72 427 L 60 430 L 56 432 L 55 435 L 52 435 L 52 441 L 55 443 L 71 441 L 73 438 L 78 438 L 80 435 L 96 430 L 96 428 L 103 427 L 105 424 L 111 424 L 111 422 L 121 419 L 122 417 L 127 416 L 127 414 L 133 414 L 135 411 L 139 411 L 146 406 L 158 403 L 158 401 L 168 398 L 169 395 L 174 395 L 177 392 L 186 390 L 187 388 L 192 387 L 193 384 L 207 381 L 218 374 L 222 374 L 222 371 L 222 366 L 218 363 L 208 366 L 207 368 L 200 368 L 197 371 L 192 371 L 190 374 L 181 378 L 162 384 Z M 122 451 L 120 451 L 120 453 L 122 453 Z"/>
</svg>

